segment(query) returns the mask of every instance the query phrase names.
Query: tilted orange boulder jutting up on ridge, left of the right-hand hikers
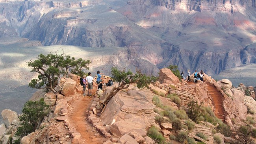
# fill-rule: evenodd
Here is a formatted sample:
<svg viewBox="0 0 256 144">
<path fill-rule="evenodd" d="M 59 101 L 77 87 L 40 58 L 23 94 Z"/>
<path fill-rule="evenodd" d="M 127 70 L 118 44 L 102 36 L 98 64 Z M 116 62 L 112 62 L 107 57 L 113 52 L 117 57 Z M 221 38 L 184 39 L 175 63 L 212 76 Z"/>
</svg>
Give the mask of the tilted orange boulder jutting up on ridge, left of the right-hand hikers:
<svg viewBox="0 0 256 144">
<path fill-rule="evenodd" d="M 177 84 L 180 81 L 169 68 L 160 69 L 158 81 L 163 83 L 164 79 L 169 80 L 173 84 Z"/>
</svg>

